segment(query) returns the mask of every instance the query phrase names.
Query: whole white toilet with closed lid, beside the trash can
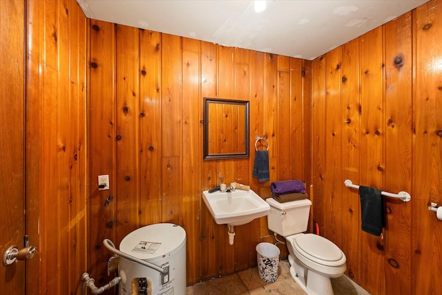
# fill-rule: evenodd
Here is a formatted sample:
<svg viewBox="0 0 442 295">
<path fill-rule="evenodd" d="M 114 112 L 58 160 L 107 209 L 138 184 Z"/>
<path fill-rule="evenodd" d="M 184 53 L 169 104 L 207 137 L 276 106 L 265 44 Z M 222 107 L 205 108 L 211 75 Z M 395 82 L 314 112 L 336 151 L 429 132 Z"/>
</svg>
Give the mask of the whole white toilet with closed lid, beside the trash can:
<svg viewBox="0 0 442 295">
<path fill-rule="evenodd" d="M 287 240 L 291 277 L 309 295 L 334 294 L 330 278 L 344 274 L 347 258 L 326 238 L 302 234 L 307 231 L 311 201 L 280 203 L 268 198 L 266 202 L 269 229 Z"/>
</svg>

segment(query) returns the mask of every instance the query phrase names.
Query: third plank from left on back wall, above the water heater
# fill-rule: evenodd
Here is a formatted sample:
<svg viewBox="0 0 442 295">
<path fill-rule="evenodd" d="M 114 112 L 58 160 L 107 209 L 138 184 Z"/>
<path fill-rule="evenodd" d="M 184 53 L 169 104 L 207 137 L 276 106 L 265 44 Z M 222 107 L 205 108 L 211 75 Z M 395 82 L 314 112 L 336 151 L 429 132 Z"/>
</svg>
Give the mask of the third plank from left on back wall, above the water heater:
<svg viewBox="0 0 442 295">
<path fill-rule="evenodd" d="M 161 34 L 140 32 L 140 225 L 161 222 Z"/>
</svg>

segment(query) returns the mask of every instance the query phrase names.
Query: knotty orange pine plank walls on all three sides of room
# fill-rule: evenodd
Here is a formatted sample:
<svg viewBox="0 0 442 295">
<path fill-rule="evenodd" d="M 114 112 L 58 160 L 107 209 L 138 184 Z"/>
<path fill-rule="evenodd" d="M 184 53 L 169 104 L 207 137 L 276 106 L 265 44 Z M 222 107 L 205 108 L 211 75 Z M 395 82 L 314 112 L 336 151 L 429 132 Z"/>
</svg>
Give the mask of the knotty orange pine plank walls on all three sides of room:
<svg viewBox="0 0 442 295">
<path fill-rule="evenodd" d="M 257 192 L 313 184 L 312 218 L 347 275 L 372 294 L 442 294 L 442 222 L 427 210 L 442 204 L 441 1 L 314 61 L 87 21 L 75 0 L 25 9 L 27 294 L 79 294 L 84 271 L 107 283 L 102 240 L 157 222 L 186 229 L 188 284 L 255 265 L 255 245 L 273 240 L 265 218 L 229 246 L 201 202 L 221 176 Z M 249 160 L 202 160 L 202 97 L 251 102 Z M 265 184 L 251 177 L 255 135 L 270 142 Z M 383 239 L 361 232 L 346 178 L 411 193 L 386 199 Z"/>
</svg>

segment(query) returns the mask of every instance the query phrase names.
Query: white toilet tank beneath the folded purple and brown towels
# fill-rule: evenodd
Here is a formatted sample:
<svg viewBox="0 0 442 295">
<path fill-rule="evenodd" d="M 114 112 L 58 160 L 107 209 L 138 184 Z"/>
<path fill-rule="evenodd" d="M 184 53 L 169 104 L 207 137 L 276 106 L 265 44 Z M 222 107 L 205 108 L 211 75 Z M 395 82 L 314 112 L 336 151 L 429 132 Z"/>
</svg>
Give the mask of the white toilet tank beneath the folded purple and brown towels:
<svg viewBox="0 0 442 295">
<path fill-rule="evenodd" d="M 309 199 L 280 203 L 266 199 L 270 205 L 267 214 L 269 229 L 280 236 L 290 236 L 307 231 L 311 201 Z"/>
</svg>

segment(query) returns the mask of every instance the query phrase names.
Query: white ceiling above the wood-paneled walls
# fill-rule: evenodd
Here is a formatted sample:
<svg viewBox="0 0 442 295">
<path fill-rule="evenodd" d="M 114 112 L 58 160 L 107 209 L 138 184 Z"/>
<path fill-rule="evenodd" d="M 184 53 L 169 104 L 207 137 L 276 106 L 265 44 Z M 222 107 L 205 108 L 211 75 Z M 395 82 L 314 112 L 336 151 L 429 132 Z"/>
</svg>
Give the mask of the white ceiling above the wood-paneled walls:
<svg viewBox="0 0 442 295">
<path fill-rule="evenodd" d="M 428 0 L 77 0 L 86 17 L 314 59 Z"/>
</svg>

